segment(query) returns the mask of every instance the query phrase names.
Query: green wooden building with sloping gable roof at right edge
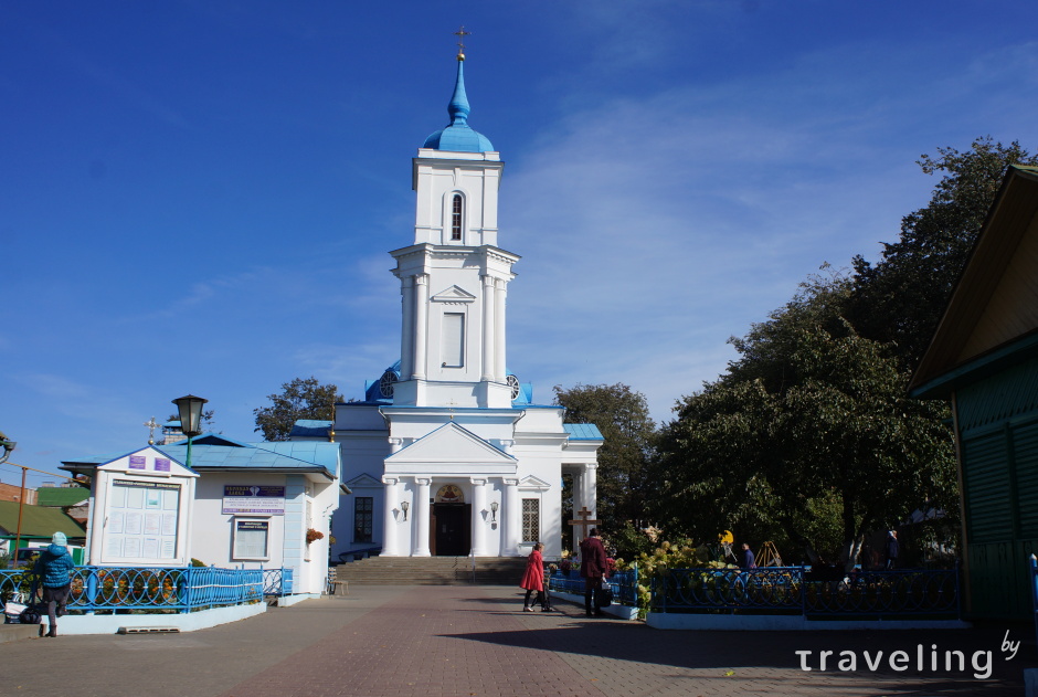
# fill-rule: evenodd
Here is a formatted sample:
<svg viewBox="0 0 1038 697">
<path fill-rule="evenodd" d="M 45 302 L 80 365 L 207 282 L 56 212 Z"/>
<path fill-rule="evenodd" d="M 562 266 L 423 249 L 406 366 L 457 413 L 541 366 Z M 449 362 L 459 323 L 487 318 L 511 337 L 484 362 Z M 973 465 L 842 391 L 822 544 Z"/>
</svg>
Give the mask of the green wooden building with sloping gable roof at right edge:
<svg viewBox="0 0 1038 697">
<path fill-rule="evenodd" d="M 963 511 L 965 615 L 1028 619 L 1038 552 L 1038 168 L 1011 167 L 913 397 L 951 400 Z"/>
</svg>

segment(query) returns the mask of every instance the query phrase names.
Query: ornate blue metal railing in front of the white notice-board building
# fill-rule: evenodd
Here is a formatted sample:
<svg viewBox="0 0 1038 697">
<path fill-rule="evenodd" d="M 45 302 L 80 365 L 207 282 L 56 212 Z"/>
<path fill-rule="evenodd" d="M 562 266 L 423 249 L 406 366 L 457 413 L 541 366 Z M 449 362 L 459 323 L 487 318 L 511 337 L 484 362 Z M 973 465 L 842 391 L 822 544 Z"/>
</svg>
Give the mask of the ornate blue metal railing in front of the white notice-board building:
<svg viewBox="0 0 1038 697">
<path fill-rule="evenodd" d="M 25 570 L 0 571 L 0 601 L 29 598 L 36 577 Z M 292 593 L 292 569 L 215 567 L 76 567 L 70 610 L 191 612 L 260 602 L 265 594 Z"/>
</svg>

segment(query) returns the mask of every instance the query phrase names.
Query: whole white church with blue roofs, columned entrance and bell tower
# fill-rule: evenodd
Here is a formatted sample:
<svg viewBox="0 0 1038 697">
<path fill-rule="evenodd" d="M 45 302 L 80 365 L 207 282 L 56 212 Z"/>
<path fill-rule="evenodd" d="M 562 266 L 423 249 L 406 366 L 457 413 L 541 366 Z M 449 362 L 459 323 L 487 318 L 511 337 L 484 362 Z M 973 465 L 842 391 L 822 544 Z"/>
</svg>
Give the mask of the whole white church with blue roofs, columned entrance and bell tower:
<svg viewBox="0 0 1038 697">
<path fill-rule="evenodd" d="M 508 369 L 506 308 L 519 256 L 499 246 L 504 162 L 468 125 L 464 53 L 451 123 L 419 148 L 414 239 L 390 252 L 402 305 L 400 360 L 333 422 L 300 421 L 292 440 L 340 444 L 343 496 L 332 518 L 332 559 L 354 550 L 389 557 L 559 557 L 562 483 L 574 510 L 594 518 L 592 424 L 563 423 Z M 580 528 L 578 528 L 580 530 Z"/>
</svg>

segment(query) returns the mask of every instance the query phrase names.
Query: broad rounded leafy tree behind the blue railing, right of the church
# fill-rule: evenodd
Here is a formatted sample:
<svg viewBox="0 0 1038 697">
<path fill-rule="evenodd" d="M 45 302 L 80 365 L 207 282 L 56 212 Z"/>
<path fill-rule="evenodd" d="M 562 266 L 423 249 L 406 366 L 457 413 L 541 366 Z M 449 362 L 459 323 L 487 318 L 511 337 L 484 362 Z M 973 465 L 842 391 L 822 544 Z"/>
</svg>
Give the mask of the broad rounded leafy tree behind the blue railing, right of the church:
<svg viewBox="0 0 1038 697">
<path fill-rule="evenodd" d="M 813 277 L 732 339 L 740 358 L 724 376 L 685 398 L 655 467 L 670 527 L 780 548 L 803 537 L 852 558 L 870 529 L 954 508 L 945 408 L 908 399 L 888 347 L 844 319 L 851 289 L 841 275 Z"/>
</svg>

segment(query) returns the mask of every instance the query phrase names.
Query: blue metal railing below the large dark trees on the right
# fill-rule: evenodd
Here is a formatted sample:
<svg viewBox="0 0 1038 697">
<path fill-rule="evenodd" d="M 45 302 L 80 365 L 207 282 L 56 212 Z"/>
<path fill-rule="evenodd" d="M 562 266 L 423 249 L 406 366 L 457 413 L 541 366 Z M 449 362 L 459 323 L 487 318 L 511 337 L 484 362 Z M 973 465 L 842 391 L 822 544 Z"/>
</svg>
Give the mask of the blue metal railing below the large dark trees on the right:
<svg viewBox="0 0 1038 697">
<path fill-rule="evenodd" d="M 958 571 L 817 573 L 802 567 L 669 569 L 653 579 L 653 612 L 805 616 L 960 616 Z"/>
</svg>

